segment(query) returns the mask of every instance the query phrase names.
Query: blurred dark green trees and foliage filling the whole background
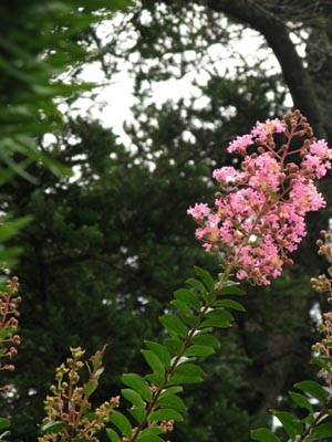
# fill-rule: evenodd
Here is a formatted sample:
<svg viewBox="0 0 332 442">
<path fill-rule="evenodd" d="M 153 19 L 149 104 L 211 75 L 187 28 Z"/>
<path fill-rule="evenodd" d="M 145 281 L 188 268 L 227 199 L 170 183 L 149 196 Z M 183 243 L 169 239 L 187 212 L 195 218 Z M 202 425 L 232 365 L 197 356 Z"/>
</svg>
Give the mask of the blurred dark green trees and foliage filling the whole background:
<svg viewBox="0 0 332 442">
<path fill-rule="evenodd" d="M 193 265 L 217 274 L 186 210 L 212 201 L 210 173 L 232 164 L 229 140 L 291 103 L 331 137 L 332 11 L 305 0 L 4 0 L 0 12 L 0 211 L 12 220 L 0 225 L 0 259 L 23 297 L 17 371 L 6 379 L 13 390 L 0 415 L 12 418 L 13 440 L 30 442 L 70 346 L 107 344 L 94 394 L 107 400 L 122 372 L 144 372 L 142 341 L 162 333 L 157 317 Z M 255 60 L 243 50 L 249 30 L 261 38 Z M 92 64 L 103 84 L 124 70 L 133 78 L 125 145 L 95 116 L 102 85 L 82 80 Z M 185 77 L 191 96 L 154 99 L 154 85 L 170 92 L 167 81 Z M 77 116 L 82 96 L 91 112 Z M 247 314 L 204 362 L 205 383 L 187 390 L 174 441 L 248 441 L 250 428 L 270 424 L 268 409 L 291 407 L 292 382 L 314 376 L 310 346 L 325 303 L 309 280 L 324 269 L 314 241 L 330 207 L 309 220 L 282 278 L 246 287 Z"/>
</svg>

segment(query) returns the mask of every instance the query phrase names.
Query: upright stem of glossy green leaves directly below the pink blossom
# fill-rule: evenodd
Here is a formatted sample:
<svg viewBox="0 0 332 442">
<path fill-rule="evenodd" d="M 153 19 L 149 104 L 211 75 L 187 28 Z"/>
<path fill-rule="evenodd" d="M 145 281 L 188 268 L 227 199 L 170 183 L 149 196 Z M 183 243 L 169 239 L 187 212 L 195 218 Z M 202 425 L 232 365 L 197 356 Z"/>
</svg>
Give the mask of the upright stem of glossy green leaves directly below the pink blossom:
<svg viewBox="0 0 332 442">
<path fill-rule="evenodd" d="M 151 372 L 145 377 L 122 377 L 127 387 L 122 396 L 132 404 L 131 418 L 111 411 L 113 428 L 107 429 L 107 434 L 112 442 L 162 442 L 160 435 L 172 431 L 174 422 L 183 421 L 183 386 L 204 379 L 198 358 L 212 355 L 220 346 L 214 329 L 231 327 L 234 316 L 229 309 L 245 311 L 240 303 L 224 297 L 245 294 L 228 275 L 219 275 L 216 284 L 207 271 L 195 271 L 198 277 L 187 280 L 188 287 L 174 293 L 170 304 L 175 312 L 160 317 L 168 336 L 163 344 L 145 341 L 147 348 L 142 354 Z M 132 421 L 137 425 L 133 428 Z"/>
</svg>

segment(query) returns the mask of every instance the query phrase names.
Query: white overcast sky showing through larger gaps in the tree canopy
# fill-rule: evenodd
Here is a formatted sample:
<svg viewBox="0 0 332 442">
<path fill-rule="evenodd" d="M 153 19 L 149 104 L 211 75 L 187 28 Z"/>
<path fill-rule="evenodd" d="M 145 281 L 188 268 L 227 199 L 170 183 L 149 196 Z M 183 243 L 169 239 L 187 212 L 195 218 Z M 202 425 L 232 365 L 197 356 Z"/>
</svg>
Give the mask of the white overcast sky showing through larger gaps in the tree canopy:
<svg viewBox="0 0 332 442">
<path fill-rule="evenodd" d="M 121 18 L 118 19 L 121 20 Z M 106 29 L 110 29 L 110 27 L 107 25 L 105 29 L 101 27 L 100 29 L 100 35 L 104 36 L 105 40 L 107 39 Z M 234 57 L 236 52 L 246 57 L 246 61 L 252 63 L 252 65 L 257 60 L 261 60 L 262 67 L 273 73 L 279 72 L 280 67 L 274 55 L 270 51 L 262 50 L 260 48 L 262 38 L 257 32 L 248 29 L 242 33 L 242 40 L 234 40 L 228 50 L 221 44 L 211 46 L 209 56 L 215 60 L 215 66 L 220 76 L 225 74 L 226 67 L 230 75 L 232 71 L 236 72 L 235 66 L 239 63 L 239 59 Z M 135 60 L 135 54 L 133 54 L 132 59 Z M 227 60 L 227 63 L 225 60 Z M 134 104 L 135 98 L 133 96 L 133 80 L 127 74 L 126 64 L 123 63 L 122 67 L 122 72 L 112 77 L 112 84 L 101 87 L 105 83 L 102 70 L 96 63 L 87 65 L 83 78 L 96 83 L 97 98 L 94 102 L 84 97 L 79 98 L 75 103 L 76 109 L 74 114 L 84 115 L 86 109 L 90 108 L 94 118 L 101 119 L 105 127 L 112 128 L 115 134 L 120 135 L 125 145 L 129 145 L 129 139 L 123 130 L 123 123 L 133 120 L 131 106 Z M 152 86 L 152 99 L 162 105 L 169 99 L 178 101 L 181 97 L 198 97 L 200 93 L 197 87 L 193 86 L 194 80 L 204 84 L 208 80 L 208 75 L 206 72 L 191 71 L 181 80 L 154 83 Z M 289 98 L 289 103 L 291 106 L 291 98 Z M 199 102 L 198 99 L 197 104 L 204 107 L 207 102 L 204 99 Z M 65 110 L 65 106 L 62 107 L 62 110 Z"/>
</svg>

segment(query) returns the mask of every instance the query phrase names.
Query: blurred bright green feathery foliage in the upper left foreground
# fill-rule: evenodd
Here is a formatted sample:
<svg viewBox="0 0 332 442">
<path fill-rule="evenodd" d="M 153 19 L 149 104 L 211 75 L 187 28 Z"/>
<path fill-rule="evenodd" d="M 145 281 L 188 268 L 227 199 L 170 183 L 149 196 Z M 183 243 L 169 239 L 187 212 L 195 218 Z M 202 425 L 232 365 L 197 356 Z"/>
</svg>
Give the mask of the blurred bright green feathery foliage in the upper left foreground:
<svg viewBox="0 0 332 442">
<path fill-rule="evenodd" d="M 61 128 L 62 118 L 54 98 L 90 87 L 82 82 L 64 81 L 65 73 L 80 69 L 89 60 L 84 34 L 110 18 L 112 11 L 127 4 L 126 0 L 113 1 L 112 6 L 106 0 L 84 1 L 77 9 L 74 0 L 1 1 L 0 185 L 15 173 L 37 182 L 37 177 L 27 171 L 35 161 L 58 175 L 70 172 L 38 148 L 37 138 Z M 11 221 L 2 215 L 1 242 L 14 235 L 27 221 L 28 218 Z M 1 267 L 11 267 L 19 253 L 20 248 L 7 249 L 1 244 Z"/>
</svg>

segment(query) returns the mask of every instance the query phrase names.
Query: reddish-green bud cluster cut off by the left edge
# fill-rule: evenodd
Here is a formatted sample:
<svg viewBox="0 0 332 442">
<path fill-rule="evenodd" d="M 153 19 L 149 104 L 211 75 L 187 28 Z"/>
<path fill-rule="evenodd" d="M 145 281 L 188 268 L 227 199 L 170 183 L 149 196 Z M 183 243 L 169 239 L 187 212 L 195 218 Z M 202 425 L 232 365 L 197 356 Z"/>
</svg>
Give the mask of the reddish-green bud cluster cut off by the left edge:
<svg viewBox="0 0 332 442">
<path fill-rule="evenodd" d="M 13 364 L 3 364 L 2 360 L 11 360 L 18 352 L 15 346 L 20 345 L 20 336 L 14 334 L 18 329 L 17 317 L 20 316 L 18 305 L 21 297 L 17 296 L 19 286 L 18 278 L 14 276 L 7 282 L 8 292 L 0 292 L 0 370 L 14 370 Z M 0 390 L 7 389 L 7 386 L 0 387 Z"/>
</svg>

